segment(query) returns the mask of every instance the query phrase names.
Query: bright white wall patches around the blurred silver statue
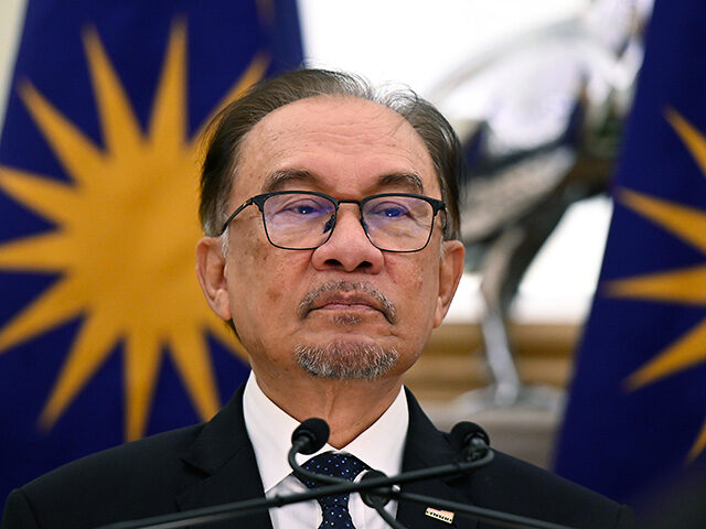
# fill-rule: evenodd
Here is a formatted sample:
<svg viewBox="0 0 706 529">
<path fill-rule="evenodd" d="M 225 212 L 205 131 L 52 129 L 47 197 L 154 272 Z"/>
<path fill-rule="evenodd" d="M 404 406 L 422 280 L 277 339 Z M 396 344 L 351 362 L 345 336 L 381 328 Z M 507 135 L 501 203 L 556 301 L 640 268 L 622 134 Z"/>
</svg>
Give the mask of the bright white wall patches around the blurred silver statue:
<svg viewBox="0 0 706 529">
<path fill-rule="evenodd" d="M 403 83 L 422 96 L 483 51 L 565 20 L 585 0 L 298 0 L 308 64 Z M 515 317 L 580 322 L 600 269 L 611 204 L 575 205 L 520 288 Z M 463 278 L 447 321 L 477 320 L 479 279 Z"/>
</svg>

